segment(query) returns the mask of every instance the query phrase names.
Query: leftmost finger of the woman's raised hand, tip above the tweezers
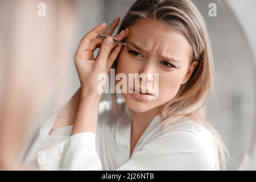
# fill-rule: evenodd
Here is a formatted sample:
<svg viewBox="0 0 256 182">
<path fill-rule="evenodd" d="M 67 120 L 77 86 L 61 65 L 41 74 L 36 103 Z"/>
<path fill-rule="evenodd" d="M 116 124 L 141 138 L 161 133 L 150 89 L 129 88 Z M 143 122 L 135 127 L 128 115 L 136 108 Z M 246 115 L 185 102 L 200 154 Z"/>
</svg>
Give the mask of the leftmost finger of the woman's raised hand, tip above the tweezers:
<svg viewBox="0 0 256 182">
<path fill-rule="evenodd" d="M 90 44 L 93 42 L 94 39 L 97 38 L 98 35 L 106 27 L 106 23 L 101 23 L 97 27 L 94 27 L 91 31 L 89 31 L 85 36 L 81 39 L 77 52 L 87 51 L 89 50 Z"/>
</svg>

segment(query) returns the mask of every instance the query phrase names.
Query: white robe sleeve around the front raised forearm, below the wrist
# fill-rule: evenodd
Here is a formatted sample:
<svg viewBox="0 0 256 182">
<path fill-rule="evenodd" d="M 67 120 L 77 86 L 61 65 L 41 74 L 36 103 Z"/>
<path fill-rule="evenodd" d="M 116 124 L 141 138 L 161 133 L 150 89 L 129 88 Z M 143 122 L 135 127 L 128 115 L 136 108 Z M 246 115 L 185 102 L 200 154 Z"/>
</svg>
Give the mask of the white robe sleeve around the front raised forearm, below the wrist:
<svg viewBox="0 0 256 182">
<path fill-rule="evenodd" d="M 101 170 L 101 162 L 98 158 L 95 146 L 96 135 L 92 132 L 84 132 L 72 135 L 52 150 L 58 155 L 52 155 L 52 151 L 46 151 L 46 163 L 40 165 L 43 170 Z"/>
</svg>

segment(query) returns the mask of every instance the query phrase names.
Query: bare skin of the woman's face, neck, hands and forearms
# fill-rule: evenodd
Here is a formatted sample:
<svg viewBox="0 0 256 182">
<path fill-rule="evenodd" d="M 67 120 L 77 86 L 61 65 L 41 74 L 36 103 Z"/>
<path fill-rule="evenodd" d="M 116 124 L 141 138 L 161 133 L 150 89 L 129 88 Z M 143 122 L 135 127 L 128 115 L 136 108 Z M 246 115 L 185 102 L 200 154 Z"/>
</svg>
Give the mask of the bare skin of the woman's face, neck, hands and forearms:
<svg viewBox="0 0 256 182">
<path fill-rule="evenodd" d="M 112 35 L 118 23 L 119 18 L 110 24 L 104 34 Z M 139 101 L 130 93 L 123 94 L 131 111 L 132 154 L 138 139 L 158 114 L 159 107 L 174 98 L 180 86 L 189 80 L 197 62 L 193 61 L 189 66 L 192 47 L 188 40 L 162 22 L 143 20 L 134 24 L 125 34 L 115 36 L 118 40 L 126 39 L 127 46 L 119 47 L 115 43 L 106 46 L 102 40 L 96 39 L 104 28 L 105 24 L 97 26 L 81 40 L 74 56 L 81 88 L 61 109 L 51 133 L 67 125 L 73 125 L 72 135 L 86 131 L 96 133 L 101 98 L 101 94 L 97 92 L 96 76 L 99 73 L 109 73 L 115 57 L 119 55 L 116 73 L 125 73 L 127 77 L 128 73 L 159 73 L 159 97 L 156 100 Z M 135 48 L 130 42 L 144 51 Z M 94 59 L 92 55 L 97 47 L 101 47 L 101 50 Z M 172 56 L 177 62 L 163 59 L 163 56 Z M 148 81 L 154 82 L 149 77 Z"/>
</svg>

